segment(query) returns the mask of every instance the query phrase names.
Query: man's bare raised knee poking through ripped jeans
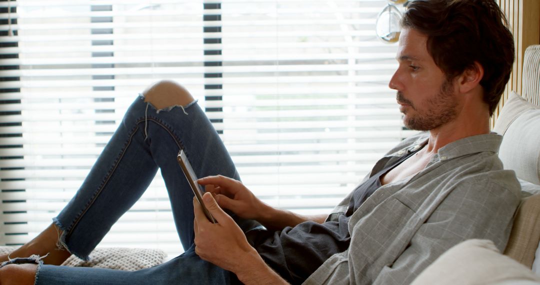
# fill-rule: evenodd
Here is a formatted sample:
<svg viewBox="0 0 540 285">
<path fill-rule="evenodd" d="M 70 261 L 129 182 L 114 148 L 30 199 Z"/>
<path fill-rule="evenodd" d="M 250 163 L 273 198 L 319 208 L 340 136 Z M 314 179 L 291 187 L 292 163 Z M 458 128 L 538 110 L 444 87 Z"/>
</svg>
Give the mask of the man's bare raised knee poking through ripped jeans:
<svg viewBox="0 0 540 285">
<path fill-rule="evenodd" d="M 194 98 L 184 86 L 172 81 L 161 80 L 143 92 L 144 101 L 149 102 L 158 110 L 170 106 L 185 106 Z"/>
</svg>

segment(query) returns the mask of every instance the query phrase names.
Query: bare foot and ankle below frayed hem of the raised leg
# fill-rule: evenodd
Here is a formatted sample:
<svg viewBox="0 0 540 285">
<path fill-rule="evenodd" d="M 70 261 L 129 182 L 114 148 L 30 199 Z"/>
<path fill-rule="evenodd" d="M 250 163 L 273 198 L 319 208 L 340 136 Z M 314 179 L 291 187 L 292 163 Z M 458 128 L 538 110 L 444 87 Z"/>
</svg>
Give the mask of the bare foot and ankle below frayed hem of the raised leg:
<svg viewBox="0 0 540 285">
<path fill-rule="evenodd" d="M 0 262 L 7 261 L 8 256 L 10 259 L 14 259 L 15 257 L 29 257 L 32 254 L 39 256 L 49 254 L 43 259 L 43 262 L 45 264 L 60 265 L 71 256 L 71 253 L 66 249 L 57 247 L 59 236 L 60 232 L 57 227 L 51 224 L 35 239 L 15 249 L 12 253 L 0 255 Z"/>
</svg>

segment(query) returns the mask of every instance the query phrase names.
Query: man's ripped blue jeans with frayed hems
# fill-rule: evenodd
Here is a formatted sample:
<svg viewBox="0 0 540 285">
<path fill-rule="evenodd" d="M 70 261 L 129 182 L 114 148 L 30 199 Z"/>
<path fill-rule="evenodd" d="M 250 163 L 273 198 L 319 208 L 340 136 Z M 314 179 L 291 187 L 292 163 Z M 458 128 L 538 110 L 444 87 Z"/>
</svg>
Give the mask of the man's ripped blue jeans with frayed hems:
<svg viewBox="0 0 540 285">
<path fill-rule="evenodd" d="M 68 250 L 88 259 L 160 169 L 184 254 L 136 272 L 42 265 L 36 284 L 236 282 L 233 273 L 201 260 L 194 252 L 193 193 L 176 159 L 180 148 L 199 178 L 221 174 L 239 179 L 225 146 L 197 103 L 157 111 L 141 97 L 130 106 L 77 194 L 53 220 L 63 230 L 60 240 Z M 235 219 L 244 231 L 258 226 L 254 221 Z"/>
</svg>

